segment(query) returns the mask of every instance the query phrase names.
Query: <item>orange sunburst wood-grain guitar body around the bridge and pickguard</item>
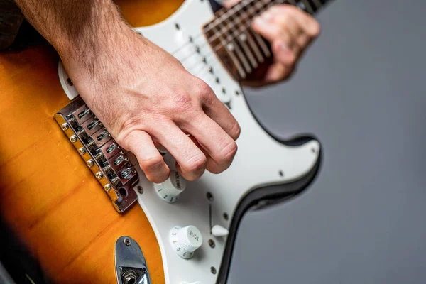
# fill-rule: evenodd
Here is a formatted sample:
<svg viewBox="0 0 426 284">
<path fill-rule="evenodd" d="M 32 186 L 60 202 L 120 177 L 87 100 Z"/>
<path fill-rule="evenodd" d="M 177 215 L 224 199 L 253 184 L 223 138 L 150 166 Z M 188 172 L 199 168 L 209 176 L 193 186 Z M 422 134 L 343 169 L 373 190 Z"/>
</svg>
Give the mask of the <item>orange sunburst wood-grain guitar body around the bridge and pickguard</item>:
<svg viewBox="0 0 426 284">
<path fill-rule="evenodd" d="M 118 1 L 135 26 L 170 16 L 182 0 Z M 116 283 L 114 244 L 138 241 L 153 283 L 160 249 L 141 207 L 118 214 L 53 115 L 69 100 L 49 46 L 0 54 L 0 212 L 55 283 Z"/>
</svg>

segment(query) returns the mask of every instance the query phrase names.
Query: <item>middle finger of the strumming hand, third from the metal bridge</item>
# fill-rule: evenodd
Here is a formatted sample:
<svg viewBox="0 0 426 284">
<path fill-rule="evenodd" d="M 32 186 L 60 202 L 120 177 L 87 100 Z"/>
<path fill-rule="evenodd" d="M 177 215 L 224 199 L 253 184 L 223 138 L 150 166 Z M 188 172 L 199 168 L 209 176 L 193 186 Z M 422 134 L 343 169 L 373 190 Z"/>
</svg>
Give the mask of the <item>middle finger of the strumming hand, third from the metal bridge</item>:
<svg viewBox="0 0 426 284">
<path fill-rule="evenodd" d="M 196 118 L 197 124 L 184 124 L 182 128 L 194 136 L 214 160 L 207 161 L 207 170 L 221 173 L 229 168 L 237 146 L 233 138 L 229 136 L 216 122 L 204 114 Z M 212 168 L 209 168 L 212 165 Z"/>
</svg>

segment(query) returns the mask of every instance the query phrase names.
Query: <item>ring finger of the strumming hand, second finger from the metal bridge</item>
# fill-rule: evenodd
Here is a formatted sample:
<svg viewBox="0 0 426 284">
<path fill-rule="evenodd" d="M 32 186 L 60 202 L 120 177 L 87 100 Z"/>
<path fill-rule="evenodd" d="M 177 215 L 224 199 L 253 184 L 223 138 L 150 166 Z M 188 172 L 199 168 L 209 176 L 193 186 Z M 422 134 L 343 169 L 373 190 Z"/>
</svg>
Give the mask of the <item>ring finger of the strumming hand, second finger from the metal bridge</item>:
<svg viewBox="0 0 426 284">
<path fill-rule="evenodd" d="M 186 180 L 197 180 L 204 173 L 207 158 L 178 126 L 170 122 L 158 126 L 155 138 L 173 155 Z"/>
</svg>

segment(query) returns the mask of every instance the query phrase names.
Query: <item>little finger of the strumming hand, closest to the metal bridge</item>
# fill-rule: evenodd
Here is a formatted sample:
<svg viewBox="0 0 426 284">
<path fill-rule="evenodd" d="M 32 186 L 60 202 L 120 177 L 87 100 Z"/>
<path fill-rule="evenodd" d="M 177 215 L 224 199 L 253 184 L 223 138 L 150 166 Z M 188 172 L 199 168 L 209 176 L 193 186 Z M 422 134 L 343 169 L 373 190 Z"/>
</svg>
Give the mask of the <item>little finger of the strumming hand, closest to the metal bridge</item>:
<svg viewBox="0 0 426 284">
<path fill-rule="evenodd" d="M 124 148 L 131 151 L 151 182 L 161 183 L 168 179 L 170 170 L 164 163 L 163 156 L 155 147 L 151 136 L 145 131 L 132 131 L 124 139 Z"/>
</svg>

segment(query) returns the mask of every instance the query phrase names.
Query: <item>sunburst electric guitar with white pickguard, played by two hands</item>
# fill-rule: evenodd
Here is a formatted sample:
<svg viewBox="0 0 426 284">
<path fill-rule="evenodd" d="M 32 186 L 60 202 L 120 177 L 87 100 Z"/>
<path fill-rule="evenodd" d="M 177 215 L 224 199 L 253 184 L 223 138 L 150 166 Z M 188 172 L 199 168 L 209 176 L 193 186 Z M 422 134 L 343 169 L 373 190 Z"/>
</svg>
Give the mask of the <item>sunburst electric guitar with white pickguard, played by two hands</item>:
<svg viewBox="0 0 426 284">
<path fill-rule="evenodd" d="M 272 58 L 250 20 L 282 3 L 315 13 L 326 0 L 244 0 L 217 13 L 207 0 L 117 2 L 229 107 L 241 126 L 234 162 L 154 185 L 78 97 L 55 50 L 2 53 L 1 216 L 54 283 L 226 283 L 244 213 L 299 194 L 320 167 L 315 138 L 280 141 L 246 103 L 239 82 Z"/>
</svg>

